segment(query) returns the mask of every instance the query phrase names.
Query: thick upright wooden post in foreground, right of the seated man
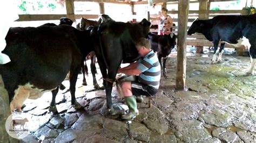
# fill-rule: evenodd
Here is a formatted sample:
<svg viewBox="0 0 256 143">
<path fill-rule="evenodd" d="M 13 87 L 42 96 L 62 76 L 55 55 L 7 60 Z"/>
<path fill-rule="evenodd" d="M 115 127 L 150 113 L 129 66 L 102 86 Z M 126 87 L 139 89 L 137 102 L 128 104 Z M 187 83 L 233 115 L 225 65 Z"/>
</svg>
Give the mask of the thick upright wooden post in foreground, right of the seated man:
<svg viewBox="0 0 256 143">
<path fill-rule="evenodd" d="M 187 20 L 190 1 L 178 2 L 178 55 L 177 55 L 177 73 L 176 89 L 186 90 L 186 35 Z"/>
</svg>

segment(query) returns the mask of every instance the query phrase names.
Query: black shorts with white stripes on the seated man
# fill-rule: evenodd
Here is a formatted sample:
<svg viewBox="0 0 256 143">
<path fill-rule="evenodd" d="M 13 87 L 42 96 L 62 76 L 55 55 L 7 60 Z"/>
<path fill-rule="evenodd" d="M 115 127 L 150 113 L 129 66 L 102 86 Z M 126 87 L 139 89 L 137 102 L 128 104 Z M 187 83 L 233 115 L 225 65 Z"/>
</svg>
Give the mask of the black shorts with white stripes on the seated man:
<svg viewBox="0 0 256 143">
<path fill-rule="evenodd" d="M 131 82 L 132 94 L 135 96 L 145 95 L 147 97 L 157 94 L 158 89 L 152 88 L 141 82 Z"/>
</svg>

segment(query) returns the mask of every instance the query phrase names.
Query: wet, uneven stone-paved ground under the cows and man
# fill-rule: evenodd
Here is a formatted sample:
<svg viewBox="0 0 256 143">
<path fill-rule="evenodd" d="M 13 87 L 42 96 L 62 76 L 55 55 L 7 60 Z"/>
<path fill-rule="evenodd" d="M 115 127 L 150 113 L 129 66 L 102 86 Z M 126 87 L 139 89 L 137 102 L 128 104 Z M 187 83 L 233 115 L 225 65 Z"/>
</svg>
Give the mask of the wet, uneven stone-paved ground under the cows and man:
<svg viewBox="0 0 256 143">
<path fill-rule="evenodd" d="M 228 51 L 229 50 L 229 51 Z M 243 76 L 250 58 L 235 56 L 227 49 L 223 62 L 210 65 L 212 52 L 197 55 L 187 50 L 186 85 L 188 91 L 176 91 L 177 54 L 167 60 L 168 79 L 161 77 L 160 89 L 151 108 L 147 99 L 138 103 L 139 116 L 130 124 L 106 110 L 104 90 L 77 82 L 76 98 L 83 106 L 71 107 L 70 92 L 57 95 L 59 115 L 48 112 L 51 93 L 25 102 L 23 112 L 30 115 L 31 134 L 25 142 L 255 142 L 256 76 Z M 99 68 L 97 68 L 98 73 Z M 255 72 L 255 70 L 254 70 Z M 101 74 L 97 80 L 102 85 Z M 69 82 L 63 82 L 66 89 Z M 124 104 L 113 88 L 114 104 Z M 124 106 L 124 109 L 127 106 Z"/>
</svg>

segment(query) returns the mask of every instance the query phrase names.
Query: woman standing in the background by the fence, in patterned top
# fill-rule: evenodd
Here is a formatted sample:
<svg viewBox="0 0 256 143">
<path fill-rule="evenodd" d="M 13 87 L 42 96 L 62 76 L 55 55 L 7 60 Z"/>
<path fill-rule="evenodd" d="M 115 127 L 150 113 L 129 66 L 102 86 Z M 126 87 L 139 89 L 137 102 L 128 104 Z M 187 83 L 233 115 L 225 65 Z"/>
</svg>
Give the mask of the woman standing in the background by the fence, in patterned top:
<svg viewBox="0 0 256 143">
<path fill-rule="evenodd" d="M 150 18 L 152 21 L 159 20 L 158 35 L 168 35 L 172 32 L 172 18 L 167 15 L 168 10 L 166 8 L 161 9 L 161 15 L 156 18 Z"/>
</svg>

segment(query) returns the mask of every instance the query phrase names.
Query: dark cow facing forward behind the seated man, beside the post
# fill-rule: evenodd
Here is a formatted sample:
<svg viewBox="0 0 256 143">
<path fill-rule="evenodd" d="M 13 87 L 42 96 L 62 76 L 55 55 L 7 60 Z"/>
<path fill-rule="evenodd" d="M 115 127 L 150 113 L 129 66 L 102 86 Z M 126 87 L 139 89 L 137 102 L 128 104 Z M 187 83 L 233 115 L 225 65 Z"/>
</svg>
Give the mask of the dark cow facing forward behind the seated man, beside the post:
<svg viewBox="0 0 256 143">
<path fill-rule="evenodd" d="M 171 53 L 172 49 L 176 45 L 176 35 L 171 33 L 169 35 L 157 35 L 152 32 L 147 34 L 147 39 L 150 41 L 151 48 L 154 52 L 157 52 L 158 60 L 161 65 L 161 59 L 163 58 L 163 75 L 167 79 L 165 64 L 167 56 Z"/>
</svg>

